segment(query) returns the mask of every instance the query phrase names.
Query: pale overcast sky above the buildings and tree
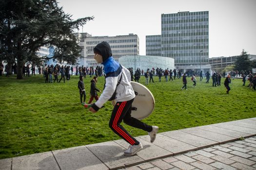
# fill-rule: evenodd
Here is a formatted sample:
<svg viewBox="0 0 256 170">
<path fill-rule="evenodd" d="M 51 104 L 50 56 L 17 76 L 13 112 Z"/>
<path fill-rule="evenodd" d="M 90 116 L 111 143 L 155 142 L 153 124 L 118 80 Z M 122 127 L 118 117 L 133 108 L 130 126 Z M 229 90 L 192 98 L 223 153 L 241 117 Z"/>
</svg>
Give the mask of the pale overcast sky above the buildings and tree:
<svg viewBox="0 0 256 170">
<path fill-rule="evenodd" d="M 161 14 L 209 11 L 209 57 L 256 55 L 256 0 L 59 0 L 73 19 L 92 17 L 79 32 L 92 36 L 137 34 L 140 55 L 146 35 L 161 34 Z"/>
</svg>

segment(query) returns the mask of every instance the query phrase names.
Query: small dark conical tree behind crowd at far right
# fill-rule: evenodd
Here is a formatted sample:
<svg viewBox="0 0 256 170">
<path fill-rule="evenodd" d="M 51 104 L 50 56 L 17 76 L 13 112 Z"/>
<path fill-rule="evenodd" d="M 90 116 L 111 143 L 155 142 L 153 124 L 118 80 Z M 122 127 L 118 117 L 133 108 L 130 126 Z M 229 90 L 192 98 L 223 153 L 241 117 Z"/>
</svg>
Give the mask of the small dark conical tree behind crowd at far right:
<svg viewBox="0 0 256 170">
<path fill-rule="evenodd" d="M 241 55 L 239 55 L 236 59 L 235 69 L 238 70 L 238 71 L 249 70 L 249 69 L 251 69 L 250 65 L 251 65 L 251 62 L 250 62 L 250 59 L 248 57 L 247 51 L 245 51 L 243 49 L 242 52 L 241 52 Z"/>
</svg>

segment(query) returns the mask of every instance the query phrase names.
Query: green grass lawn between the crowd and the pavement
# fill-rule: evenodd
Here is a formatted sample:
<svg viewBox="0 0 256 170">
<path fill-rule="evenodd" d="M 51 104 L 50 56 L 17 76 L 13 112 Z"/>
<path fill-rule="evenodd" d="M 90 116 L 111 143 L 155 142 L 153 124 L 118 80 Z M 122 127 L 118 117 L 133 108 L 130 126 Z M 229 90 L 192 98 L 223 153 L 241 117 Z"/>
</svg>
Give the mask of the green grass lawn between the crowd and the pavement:
<svg viewBox="0 0 256 170">
<path fill-rule="evenodd" d="M 89 76 L 84 79 L 87 102 L 90 80 Z M 143 121 L 159 126 L 159 132 L 256 117 L 256 91 L 242 86 L 241 79 L 232 80 L 230 94 L 226 94 L 224 78 L 217 87 L 205 79 L 192 87 L 187 78 L 188 90 L 180 89 L 182 80 L 154 80 L 147 87 L 155 97 L 155 110 Z M 120 139 L 108 127 L 111 102 L 90 113 L 80 105 L 78 81 L 78 76 L 52 84 L 45 84 L 42 75 L 22 80 L 0 77 L 0 159 Z M 142 77 L 140 83 L 144 81 Z M 103 83 L 99 77 L 101 90 Z M 147 134 L 124 127 L 133 136 Z"/>
</svg>

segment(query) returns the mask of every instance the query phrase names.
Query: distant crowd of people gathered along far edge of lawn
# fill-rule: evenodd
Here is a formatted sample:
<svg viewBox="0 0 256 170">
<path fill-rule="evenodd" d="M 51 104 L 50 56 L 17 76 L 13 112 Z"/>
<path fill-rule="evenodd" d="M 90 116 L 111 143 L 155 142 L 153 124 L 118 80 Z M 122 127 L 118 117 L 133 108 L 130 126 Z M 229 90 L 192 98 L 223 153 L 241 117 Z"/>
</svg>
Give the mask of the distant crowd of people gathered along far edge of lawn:
<svg viewBox="0 0 256 170">
<path fill-rule="evenodd" d="M 75 69 L 75 72 L 74 72 Z M 5 76 L 8 77 L 10 75 L 9 73 L 9 67 L 8 65 L 0 64 L 0 76 L 3 75 L 5 72 Z M 212 86 L 220 86 L 221 85 L 221 79 L 222 77 L 228 77 L 230 75 L 230 79 L 233 78 L 242 78 L 243 86 L 245 86 L 246 82 L 249 82 L 247 85 L 249 88 L 256 89 L 256 74 L 253 74 L 250 71 L 229 71 L 229 72 L 215 72 L 215 71 L 206 71 L 206 73 L 200 71 L 194 71 L 192 69 L 187 70 L 186 72 L 182 72 L 182 70 L 177 69 L 162 69 L 162 68 L 152 68 L 152 69 L 146 69 L 145 71 L 143 69 L 137 68 L 135 73 L 133 72 L 133 68 L 128 68 L 128 70 L 131 73 L 131 81 L 136 81 L 139 83 L 140 77 L 145 77 L 145 85 L 148 85 L 149 83 L 154 83 L 154 77 L 158 77 L 158 81 L 161 82 L 161 78 L 164 77 L 164 80 L 167 81 L 174 81 L 175 79 L 181 79 L 182 82 L 186 82 L 184 80 L 184 75 L 186 77 L 191 77 L 191 81 L 193 82 L 194 87 L 197 85 L 197 78 L 196 76 L 199 76 L 199 81 L 203 80 L 203 77 L 206 78 L 206 83 L 209 83 L 210 80 L 212 80 Z M 17 74 L 17 63 L 14 63 L 12 65 L 11 69 L 13 74 Z M 65 80 L 70 80 L 70 75 L 79 75 L 83 78 L 86 78 L 86 75 L 89 75 L 90 77 L 101 77 L 104 75 L 103 68 L 97 66 L 96 68 L 92 67 L 83 67 L 83 66 L 76 66 L 76 68 L 73 68 L 73 66 L 60 66 L 59 64 L 53 65 L 44 65 L 43 67 L 38 67 L 38 70 L 36 70 L 36 66 L 34 64 L 24 64 L 22 67 L 22 74 L 23 76 L 33 76 L 37 74 L 43 74 L 43 77 L 45 78 L 45 83 L 60 83 L 62 80 L 65 83 Z M 59 79 L 59 76 L 60 79 Z M 183 76 L 182 76 L 183 75 Z M 53 80 L 54 78 L 54 80 Z M 231 80 L 230 80 L 231 82 Z M 224 82 L 225 83 L 225 82 Z M 185 85 L 185 84 L 184 84 Z M 186 88 L 185 86 L 182 87 L 183 89 Z"/>
</svg>

